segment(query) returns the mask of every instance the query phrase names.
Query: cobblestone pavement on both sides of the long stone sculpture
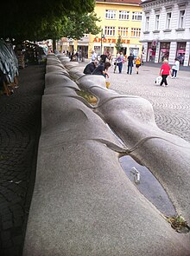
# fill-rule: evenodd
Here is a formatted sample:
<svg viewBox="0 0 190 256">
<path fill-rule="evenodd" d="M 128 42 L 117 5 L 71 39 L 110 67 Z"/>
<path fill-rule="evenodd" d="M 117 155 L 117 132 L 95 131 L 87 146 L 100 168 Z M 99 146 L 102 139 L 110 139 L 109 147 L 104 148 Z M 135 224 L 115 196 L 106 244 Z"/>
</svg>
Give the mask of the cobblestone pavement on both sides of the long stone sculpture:
<svg viewBox="0 0 190 256">
<path fill-rule="evenodd" d="M 86 62 L 80 62 L 81 68 Z M 135 69 L 134 69 L 135 71 Z M 109 70 L 111 89 L 149 100 L 155 121 L 163 130 L 190 141 L 189 71 L 168 78 L 167 88 L 155 86 L 159 69 L 142 66 L 139 75 Z M 21 256 L 28 210 L 35 183 L 38 141 L 41 133 L 41 95 L 44 66 L 20 70 L 14 95 L 0 96 L 0 255 Z"/>
</svg>

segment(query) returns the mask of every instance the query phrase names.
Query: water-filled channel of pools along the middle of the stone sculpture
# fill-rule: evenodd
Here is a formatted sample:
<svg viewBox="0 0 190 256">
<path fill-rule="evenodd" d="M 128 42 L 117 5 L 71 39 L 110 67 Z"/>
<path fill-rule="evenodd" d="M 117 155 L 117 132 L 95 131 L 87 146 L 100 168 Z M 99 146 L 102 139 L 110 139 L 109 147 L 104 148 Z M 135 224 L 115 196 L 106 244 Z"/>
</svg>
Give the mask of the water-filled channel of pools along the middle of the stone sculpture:
<svg viewBox="0 0 190 256">
<path fill-rule="evenodd" d="M 89 91 L 80 90 L 78 95 L 83 97 L 88 103 L 92 105 L 92 108 L 96 108 L 98 98 L 92 95 Z M 105 122 L 105 121 L 104 121 Z M 117 140 L 124 145 L 121 138 L 114 132 L 114 130 L 105 122 L 107 127 L 111 130 L 111 133 L 117 138 Z M 119 163 L 123 167 L 124 173 L 130 179 L 132 184 L 143 194 L 162 214 L 166 220 L 171 223 L 171 226 L 179 233 L 188 233 L 190 227 L 185 220 L 182 220 L 182 226 L 179 227 L 178 219 L 180 218 L 176 209 L 169 199 L 167 192 L 161 183 L 155 178 L 155 175 L 151 173 L 149 168 L 145 167 L 142 162 L 135 159 L 130 154 L 119 155 Z M 170 220 L 174 220 L 172 223 Z M 175 226 L 174 226 L 175 225 Z M 181 225 L 181 224 L 180 224 Z"/>
</svg>

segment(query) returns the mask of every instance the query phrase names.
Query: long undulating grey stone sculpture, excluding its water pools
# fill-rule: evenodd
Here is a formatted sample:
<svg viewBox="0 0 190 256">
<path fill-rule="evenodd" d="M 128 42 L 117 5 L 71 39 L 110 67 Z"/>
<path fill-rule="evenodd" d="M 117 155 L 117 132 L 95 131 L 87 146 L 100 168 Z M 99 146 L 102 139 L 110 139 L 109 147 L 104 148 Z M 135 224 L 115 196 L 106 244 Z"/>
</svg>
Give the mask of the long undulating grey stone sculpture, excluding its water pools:
<svg viewBox="0 0 190 256">
<path fill-rule="evenodd" d="M 71 82 L 56 78 L 60 62 Z M 66 57 L 50 55 L 51 63 L 23 255 L 189 256 L 189 233 L 174 231 L 118 161 L 130 154 L 148 167 L 190 223 L 189 142 L 157 127 L 148 100 L 106 89 L 103 76 L 84 75 Z"/>
</svg>

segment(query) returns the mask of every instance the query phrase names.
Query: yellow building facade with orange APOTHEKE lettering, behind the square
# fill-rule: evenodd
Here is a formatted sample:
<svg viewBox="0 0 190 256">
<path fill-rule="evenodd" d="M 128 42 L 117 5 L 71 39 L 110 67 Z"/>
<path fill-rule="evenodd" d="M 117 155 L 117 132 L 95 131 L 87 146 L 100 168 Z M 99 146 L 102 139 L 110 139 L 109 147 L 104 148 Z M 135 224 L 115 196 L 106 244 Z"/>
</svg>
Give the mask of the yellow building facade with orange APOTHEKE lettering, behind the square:
<svg viewBox="0 0 190 256">
<path fill-rule="evenodd" d="M 98 35 L 85 35 L 81 40 L 67 42 L 67 50 L 83 51 L 90 58 L 92 50 L 98 55 L 109 52 L 117 55 L 118 36 L 122 39 L 123 55 L 139 56 L 142 44 L 139 42 L 142 23 L 142 7 L 139 0 L 105 0 L 96 1 L 94 12 L 100 18 L 97 23 L 102 32 Z M 66 49 L 65 48 L 65 49 Z"/>
</svg>

